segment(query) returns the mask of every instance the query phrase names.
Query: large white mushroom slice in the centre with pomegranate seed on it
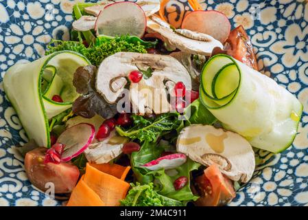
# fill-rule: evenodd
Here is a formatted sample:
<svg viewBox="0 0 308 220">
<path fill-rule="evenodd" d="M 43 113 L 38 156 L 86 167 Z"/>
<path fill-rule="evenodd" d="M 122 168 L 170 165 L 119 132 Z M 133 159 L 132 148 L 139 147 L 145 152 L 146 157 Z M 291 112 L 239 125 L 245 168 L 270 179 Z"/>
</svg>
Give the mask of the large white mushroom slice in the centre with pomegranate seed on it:
<svg viewBox="0 0 308 220">
<path fill-rule="evenodd" d="M 96 89 L 107 102 L 115 103 L 123 92 L 127 82 L 126 77 L 130 72 L 147 70 L 149 67 L 153 70 L 150 78 L 143 78 L 139 83 L 131 83 L 130 100 L 139 113 L 168 112 L 170 106 L 167 102 L 165 82 L 181 81 L 187 89 L 191 89 L 191 77 L 187 69 L 171 56 L 130 52 L 119 52 L 108 56 L 99 65 Z M 152 99 L 150 96 L 142 96 L 143 91 L 152 93 Z M 161 98 L 155 97 L 156 94 Z"/>
</svg>

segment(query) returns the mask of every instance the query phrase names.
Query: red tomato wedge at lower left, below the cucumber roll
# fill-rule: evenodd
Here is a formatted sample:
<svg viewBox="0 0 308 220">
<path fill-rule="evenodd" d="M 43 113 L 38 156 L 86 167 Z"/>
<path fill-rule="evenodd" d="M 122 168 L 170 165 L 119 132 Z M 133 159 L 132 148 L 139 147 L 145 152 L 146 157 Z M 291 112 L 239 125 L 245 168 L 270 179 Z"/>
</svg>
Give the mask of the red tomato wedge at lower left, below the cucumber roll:
<svg viewBox="0 0 308 220">
<path fill-rule="evenodd" d="M 25 155 L 25 172 L 29 181 L 40 190 L 53 183 L 55 193 L 71 192 L 79 178 L 79 169 L 71 163 L 44 164 L 47 148 L 35 148 Z"/>
</svg>

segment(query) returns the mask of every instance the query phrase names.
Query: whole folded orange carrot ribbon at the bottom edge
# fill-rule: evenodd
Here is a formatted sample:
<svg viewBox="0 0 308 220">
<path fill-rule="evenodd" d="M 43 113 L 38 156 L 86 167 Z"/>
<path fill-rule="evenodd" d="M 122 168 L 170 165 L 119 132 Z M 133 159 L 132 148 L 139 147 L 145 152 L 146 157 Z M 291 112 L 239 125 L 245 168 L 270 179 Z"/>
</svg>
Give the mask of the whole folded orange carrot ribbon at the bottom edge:
<svg viewBox="0 0 308 220">
<path fill-rule="evenodd" d="M 73 189 L 67 206 L 119 206 L 130 188 L 124 181 L 129 170 L 130 166 L 117 164 L 86 164 L 86 173 Z"/>
</svg>

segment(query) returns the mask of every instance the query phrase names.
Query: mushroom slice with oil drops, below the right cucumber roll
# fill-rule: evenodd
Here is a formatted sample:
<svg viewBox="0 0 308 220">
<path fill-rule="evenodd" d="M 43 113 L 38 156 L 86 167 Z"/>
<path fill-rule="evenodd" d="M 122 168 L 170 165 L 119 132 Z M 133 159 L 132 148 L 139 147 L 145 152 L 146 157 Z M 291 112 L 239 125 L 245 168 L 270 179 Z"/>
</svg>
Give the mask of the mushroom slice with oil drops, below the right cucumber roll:
<svg viewBox="0 0 308 220">
<path fill-rule="evenodd" d="M 254 151 L 249 142 L 237 133 L 214 126 L 194 124 L 182 129 L 177 150 L 205 166 L 217 164 L 234 181 L 246 183 L 254 172 Z"/>
</svg>

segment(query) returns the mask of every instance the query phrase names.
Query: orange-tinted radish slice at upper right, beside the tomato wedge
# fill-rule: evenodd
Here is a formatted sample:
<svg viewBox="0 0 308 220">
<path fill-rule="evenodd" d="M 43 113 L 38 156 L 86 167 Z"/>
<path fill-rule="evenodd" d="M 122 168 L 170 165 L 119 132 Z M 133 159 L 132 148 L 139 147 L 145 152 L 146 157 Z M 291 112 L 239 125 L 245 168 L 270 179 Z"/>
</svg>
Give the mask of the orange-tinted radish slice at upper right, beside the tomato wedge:
<svg viewBox="0 0 308 220">
<path fill-rule="evenodd" d="M 224 43 L 230 34 L 231 24 L 222 12 L 215 10 L 194 11 L 187 14 L 181 28 L 209 34 L 214 39 Z"/>
</svg>

